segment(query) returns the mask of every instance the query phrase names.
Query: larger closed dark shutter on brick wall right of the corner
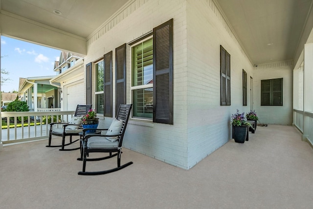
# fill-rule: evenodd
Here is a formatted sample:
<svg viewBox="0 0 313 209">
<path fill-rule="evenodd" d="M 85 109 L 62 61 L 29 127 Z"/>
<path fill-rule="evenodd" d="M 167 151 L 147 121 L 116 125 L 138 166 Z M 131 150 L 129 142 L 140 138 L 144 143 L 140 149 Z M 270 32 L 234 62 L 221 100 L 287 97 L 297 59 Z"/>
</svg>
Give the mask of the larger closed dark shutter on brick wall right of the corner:
<svg viewBox="0 0 313 209">
<path fill-rule="evenodd" d="M 221 45 L 221 105 L 230 105 L 230 54 Z"/>
</svg>

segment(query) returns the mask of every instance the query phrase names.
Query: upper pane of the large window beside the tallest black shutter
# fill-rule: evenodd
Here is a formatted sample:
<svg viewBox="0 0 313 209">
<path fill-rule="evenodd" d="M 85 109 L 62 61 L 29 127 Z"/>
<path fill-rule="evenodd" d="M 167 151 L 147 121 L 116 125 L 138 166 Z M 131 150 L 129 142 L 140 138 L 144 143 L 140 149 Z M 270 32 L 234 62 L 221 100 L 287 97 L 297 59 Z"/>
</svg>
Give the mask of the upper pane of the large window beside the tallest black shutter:
<svg viewBox="0 0 313 209">
<path fill-rule="evenodd" d="M 133 86 L 153 83 L 153 39 L 132 48 Z"/>
</svg>

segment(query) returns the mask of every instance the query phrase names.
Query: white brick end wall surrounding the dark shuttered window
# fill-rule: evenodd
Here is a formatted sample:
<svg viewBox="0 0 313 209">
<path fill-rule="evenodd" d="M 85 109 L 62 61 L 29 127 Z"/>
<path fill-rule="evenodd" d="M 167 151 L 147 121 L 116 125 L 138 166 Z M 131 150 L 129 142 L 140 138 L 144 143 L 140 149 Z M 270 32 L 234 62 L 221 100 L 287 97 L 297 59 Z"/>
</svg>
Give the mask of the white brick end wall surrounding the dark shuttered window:
<svg viewBox="0 0 313 209">
<path fill-rule="evenodd" d="M 253 109 L 261 123 L 292 125 L 292 62 L 259 65 L 253 77 Z M 261 80 L 283 78 L 283 106 L 261 106 Z"/>
</svg>

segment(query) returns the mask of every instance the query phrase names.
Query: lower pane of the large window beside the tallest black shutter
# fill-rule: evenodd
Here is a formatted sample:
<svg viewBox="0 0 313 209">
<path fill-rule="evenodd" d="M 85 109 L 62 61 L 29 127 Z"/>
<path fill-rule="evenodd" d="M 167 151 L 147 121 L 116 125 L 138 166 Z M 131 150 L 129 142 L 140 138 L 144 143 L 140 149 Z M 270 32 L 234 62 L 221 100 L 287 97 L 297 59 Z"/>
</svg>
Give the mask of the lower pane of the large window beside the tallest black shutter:
<svg viewBox="0 0 313 209">
<path fill-rule="evenodd" d="M 152 118 L 153 88 L 133 90 L 133 116 Z"/>
</svg>

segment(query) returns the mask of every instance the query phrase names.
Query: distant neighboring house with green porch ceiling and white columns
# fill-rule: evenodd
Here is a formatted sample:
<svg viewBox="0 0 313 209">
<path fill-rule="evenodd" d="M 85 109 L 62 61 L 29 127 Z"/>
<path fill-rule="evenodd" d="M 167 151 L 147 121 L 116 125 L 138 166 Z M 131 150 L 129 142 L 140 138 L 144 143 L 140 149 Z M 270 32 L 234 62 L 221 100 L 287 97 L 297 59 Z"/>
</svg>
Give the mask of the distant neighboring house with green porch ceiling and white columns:
<svg viewBox="0 0 313 209">
<path fill-rule="evenodd" d="M 53 77 L 55 76 L 20 78 L 19 98 L 27 102 L 30 111 L 60 108 L 60 84 L 51 85 L 49 81 Z"/>
</svg>

